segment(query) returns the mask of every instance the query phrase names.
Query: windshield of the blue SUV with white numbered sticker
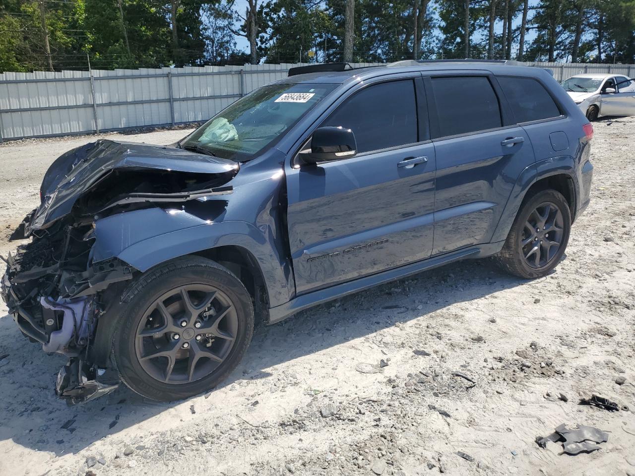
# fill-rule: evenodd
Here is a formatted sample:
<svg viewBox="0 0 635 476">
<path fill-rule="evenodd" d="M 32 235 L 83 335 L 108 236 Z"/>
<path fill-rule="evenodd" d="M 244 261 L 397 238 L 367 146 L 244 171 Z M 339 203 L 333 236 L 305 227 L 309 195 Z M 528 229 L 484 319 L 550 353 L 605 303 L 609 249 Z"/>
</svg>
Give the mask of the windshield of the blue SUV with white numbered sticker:
<svg viewBox="0 0 635 476">
<path fill-rule="evenodd" d="M 256 89 L 196 129 L 182 149 L 224 159 L 253 159 L 273 145 L 337 84 L 272 84 Z"/>
</svg>

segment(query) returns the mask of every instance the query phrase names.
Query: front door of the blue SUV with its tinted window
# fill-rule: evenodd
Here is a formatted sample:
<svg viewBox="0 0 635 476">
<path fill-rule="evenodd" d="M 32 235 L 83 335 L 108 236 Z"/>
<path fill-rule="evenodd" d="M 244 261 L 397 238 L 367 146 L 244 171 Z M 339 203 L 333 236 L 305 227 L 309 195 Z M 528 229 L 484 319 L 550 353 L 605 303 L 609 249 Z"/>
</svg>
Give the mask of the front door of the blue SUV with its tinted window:
<svg viewBox="0 0 635 476">
<path fill-rule="evenodd" d="M 418 117 L 420 81 L 359 87 L 320 124 L 352 129 L 358 154 L 287 168 L 297 294 L 430 256 L 435 156 Z M 413 158 L 419 163 L 400 164 Z"/>
</svg>

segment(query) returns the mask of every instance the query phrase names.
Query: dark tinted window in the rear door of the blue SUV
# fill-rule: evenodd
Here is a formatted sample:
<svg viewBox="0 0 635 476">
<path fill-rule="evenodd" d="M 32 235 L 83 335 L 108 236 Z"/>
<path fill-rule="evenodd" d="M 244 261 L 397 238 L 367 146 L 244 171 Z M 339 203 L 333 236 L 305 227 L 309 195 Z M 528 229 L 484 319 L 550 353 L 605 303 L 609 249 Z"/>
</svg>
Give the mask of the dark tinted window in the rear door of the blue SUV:
<svg viewBox="0 0 635 476">
<path fill-rule="evenodd" d="M 439 136 L 498 128 L 500 107 L 486 77 L 434 77 Z"/>
</svg>

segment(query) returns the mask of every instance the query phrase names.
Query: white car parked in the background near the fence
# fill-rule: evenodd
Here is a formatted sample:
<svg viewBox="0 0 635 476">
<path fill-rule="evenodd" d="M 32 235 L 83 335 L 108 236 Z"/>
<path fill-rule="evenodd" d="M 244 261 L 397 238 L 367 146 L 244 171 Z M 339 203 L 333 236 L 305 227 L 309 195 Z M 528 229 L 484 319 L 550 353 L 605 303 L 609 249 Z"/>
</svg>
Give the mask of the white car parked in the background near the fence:
<svg viewBox="0 0 635 476">
<path fill-rule="evenodd" d="M 589 121 L 635 116 L 635 79 L 621 74 L 578 74 L 560 83 Z"/>
</svg>

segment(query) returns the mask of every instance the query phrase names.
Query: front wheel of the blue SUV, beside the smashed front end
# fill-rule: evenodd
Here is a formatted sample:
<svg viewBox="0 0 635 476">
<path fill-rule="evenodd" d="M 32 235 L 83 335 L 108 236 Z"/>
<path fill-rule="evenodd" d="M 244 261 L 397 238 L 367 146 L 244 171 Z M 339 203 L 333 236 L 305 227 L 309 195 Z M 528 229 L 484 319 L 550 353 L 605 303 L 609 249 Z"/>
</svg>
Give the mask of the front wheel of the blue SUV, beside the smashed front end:
<svg viewBox="0 0 635 476">
<path fill-rule="evenodd" d="M 229 270 L 198 256 L 149 270 L 123 300 L 112 355 L 121 380 L 150 399 L 184 399 L 215 387 L 251 341 L 249 293 Z"/>
</svg>

